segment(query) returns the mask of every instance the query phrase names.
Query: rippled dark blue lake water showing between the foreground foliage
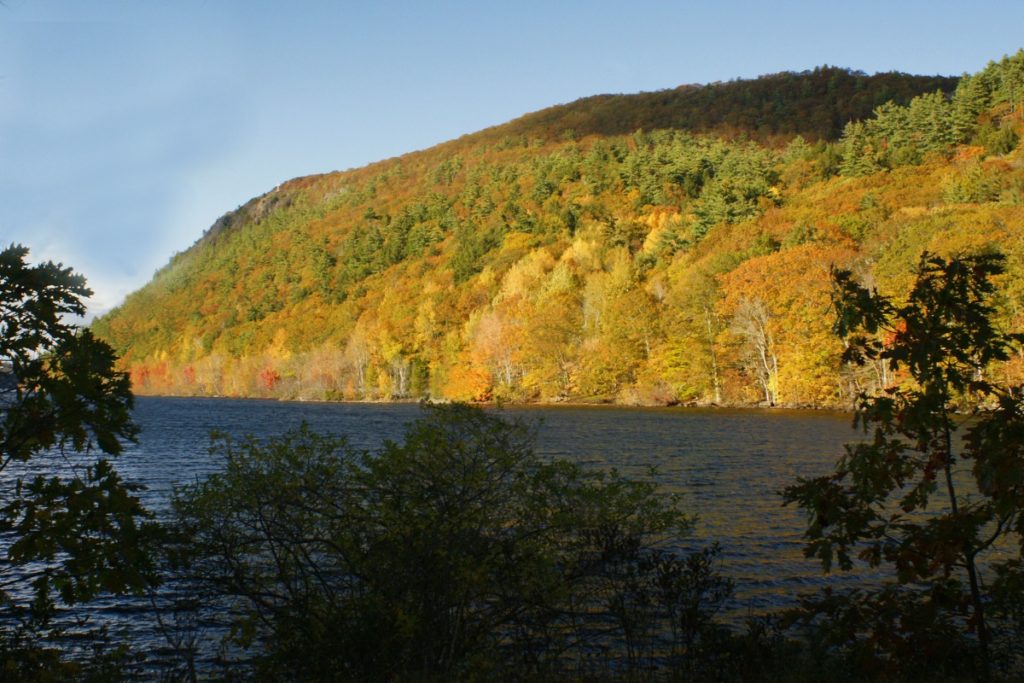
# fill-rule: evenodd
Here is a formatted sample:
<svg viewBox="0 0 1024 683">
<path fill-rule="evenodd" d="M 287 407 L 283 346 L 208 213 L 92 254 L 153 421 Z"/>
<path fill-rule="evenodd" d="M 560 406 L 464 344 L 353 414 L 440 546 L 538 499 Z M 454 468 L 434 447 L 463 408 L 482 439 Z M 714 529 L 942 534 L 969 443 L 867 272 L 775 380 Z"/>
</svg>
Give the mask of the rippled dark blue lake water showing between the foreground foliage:
<svg viewBox="0 0 1024 683">
<path fill-rule="evenodd" d="M 798 476 L 830 471 L 842 444 L 858 436 L 849 415 L 611 407 L 509 407 L 500 413 L 536 424 L 543 456 L 653 477 L 665 490 L 681 494 L 684 508 L 699 518 L 686 545 L 722 546 L 722 571 L 736 582 L 733 615 L 792 605 L 801 592 L 854 581 L 824 578 L 816 562 L 803 557 L 804 515 L 783 508 L 778 493 Z M 267 437 L 306 422 L 373 450 L 385 439 L 400 439 L 403 426 L 419 414 L 416 404 L 140 397 L 139 441 L 117 466 L 125 478 L 144 484 L 146 504 L 163 512 L 175 485 L 217 468 L 208 453 L 213 430 Z M 139 639 L 153 638 L 146 604 L 109 600 L 94 607 L 101 621 L 126 625 Z"/>
</svg>

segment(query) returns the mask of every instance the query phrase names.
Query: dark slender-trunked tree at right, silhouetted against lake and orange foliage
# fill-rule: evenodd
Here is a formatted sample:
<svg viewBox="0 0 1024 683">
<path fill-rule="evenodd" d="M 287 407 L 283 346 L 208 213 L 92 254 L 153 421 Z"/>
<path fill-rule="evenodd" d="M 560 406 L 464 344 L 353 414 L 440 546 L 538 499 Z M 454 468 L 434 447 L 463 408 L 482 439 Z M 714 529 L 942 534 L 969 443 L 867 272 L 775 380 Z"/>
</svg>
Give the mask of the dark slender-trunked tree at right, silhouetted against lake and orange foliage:
<svg viewBox="0 0 1024 683">
<path fill-rule="evenodd" d="M 902 305 L 834 271 L 844 358 L 888 361 L 904 381 L 861 394 L 855 424 L 867 438 L 846 447 L 834 473 L 784 493 L 807 511 L 805 552 L 825 570 L 836 561 L 849 569 L 855 558 L 893 567 L 895 582 L 848 603 L 878 623 L 889 615 L 886 632 L 871 634 L 876 647 L 894 663 L 901 650 L 920 654 L 925 641 L 948 653 L 949 633 L 966 629 L 981 678 L 990 674 L 993 596 L 1021 585 L 1020 544 L 1001 557 L 993 550 L 1024 530 L 1024 395 L 987 379 L 1024 340 L 992 322 L 992 279 L 1004 260 L 925 254 Z M 987 588 L 983 566 L 1001 577 Z M 1019 605 L 1019 590 L 1015 598 Z M 834 600 L 825 605 L 835 610 Z"/>
</svg>

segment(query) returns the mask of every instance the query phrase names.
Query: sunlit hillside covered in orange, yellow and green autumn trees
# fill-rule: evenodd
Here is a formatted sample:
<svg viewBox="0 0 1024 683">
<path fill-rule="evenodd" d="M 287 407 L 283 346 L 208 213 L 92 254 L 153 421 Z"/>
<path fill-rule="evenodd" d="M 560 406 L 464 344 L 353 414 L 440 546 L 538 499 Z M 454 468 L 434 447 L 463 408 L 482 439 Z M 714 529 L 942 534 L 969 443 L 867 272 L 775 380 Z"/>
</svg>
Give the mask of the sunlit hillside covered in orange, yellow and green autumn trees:
<svg viewBox="0 0 1024 683">
<path fill-rule="evenodd" d="M 841 368 L 833 264 L 997 248 L 1024 327 L 1022 102 L 1024 51 L 591 97 L 285 182 L 93 327 L 140 393 L 845 405 L 894 378 Z"/>
</svg>

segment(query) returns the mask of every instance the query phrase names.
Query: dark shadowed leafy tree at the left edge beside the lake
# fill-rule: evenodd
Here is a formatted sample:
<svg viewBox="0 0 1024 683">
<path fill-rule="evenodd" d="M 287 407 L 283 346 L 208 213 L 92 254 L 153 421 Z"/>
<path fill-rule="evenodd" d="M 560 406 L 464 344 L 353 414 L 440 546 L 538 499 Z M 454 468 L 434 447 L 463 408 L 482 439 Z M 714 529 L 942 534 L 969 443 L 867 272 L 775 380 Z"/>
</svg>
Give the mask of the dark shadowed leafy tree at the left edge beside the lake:
<svg viewBox="0 0 1024 683">
<path fill-rule="evenodd" d="M 85 312 L 85 280 L 59 264 L 31 266 L 28 253 L 0 251 L 0 601 L 19 623 L 0 625 L 0 658 L 25 666 L 43 651 L 27 639 L 53 635 L 57 600 L 155 581 L 155 526 L 137 487 L 103 457 L 135 437 L 128 378 L 105 343 L 66 319 Z M 30 475 L 33 460 L 50 473 Z"/>
</svg>

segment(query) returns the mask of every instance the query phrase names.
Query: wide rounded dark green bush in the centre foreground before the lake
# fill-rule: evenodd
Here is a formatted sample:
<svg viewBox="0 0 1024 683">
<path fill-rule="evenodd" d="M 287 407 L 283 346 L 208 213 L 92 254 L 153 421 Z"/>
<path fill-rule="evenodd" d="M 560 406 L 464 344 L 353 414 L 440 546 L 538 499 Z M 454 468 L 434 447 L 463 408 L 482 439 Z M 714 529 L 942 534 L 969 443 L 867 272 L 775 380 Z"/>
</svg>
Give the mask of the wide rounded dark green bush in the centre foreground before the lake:
<svg viewBox="0 0 1024 683">
<path fill-rule="evenodd" d="M 304 428 L 221 440 L 223 471 L 178 493 L 191 570 L 257 675 L 543 676 L 601 650 L 639 668 L 668 631 L 696 660 L 731 584 L 717 549 L 669 550 L 674 499 L 543 460 L 519 423 L 424 411 L 378 454 Z"/>
</svg>

